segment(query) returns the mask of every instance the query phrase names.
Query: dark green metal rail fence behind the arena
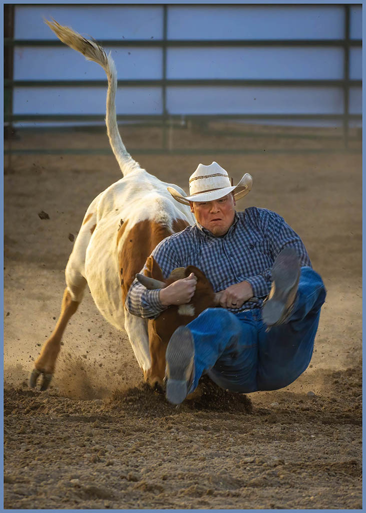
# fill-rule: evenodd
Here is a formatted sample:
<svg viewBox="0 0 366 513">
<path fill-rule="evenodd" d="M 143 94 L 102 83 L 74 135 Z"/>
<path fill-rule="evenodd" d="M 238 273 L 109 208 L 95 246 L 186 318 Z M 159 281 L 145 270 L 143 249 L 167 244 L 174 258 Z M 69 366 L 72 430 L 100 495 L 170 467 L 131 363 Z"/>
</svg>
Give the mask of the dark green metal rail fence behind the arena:
<svg viewBox="0 0 366 513">
<path fill-rule="evenodd" d="M 136 86 L 159 86 L 162 91 L 162 114 L 157 115 L 117 115 L 118 122 L 134 121 L 139 123 L 158 123 L 162 128 L 162 147 L 161 152 L 179 152 L 179 149 L 169 147 L 167 130 L 174 123 L 186 124 L 191 121 L 193 123 L 206 126 L 210 121 L 218 120 L 240 120 L 243 122 L 260 122 L 262 121 L 291 121 L 291 120 L 310 120 L 310 121 L 336 121 L 342 124 L 342 138 L 344 147 L 347 148 L 350 140 L 350 122 L 360 122 L 361 114 L 352 114 L 349 110 L 350 88 L 361 87 L 361 80 L 350 79 L 350 49 L 352 47 L 361 47 L 362 41 L 350 38 L 350 5 L 344 5 L 344 38 L 337 40 L 170 40 L 167 37 L 167 12 L 168 6 L 162 6 L 164 12 L 163 35 L 161 40 L 105 40 L 99 41 L 102 46 L 113 47 L 159 47 L 162 49 L 162 78 L 160 80 L 124 80 L 119 84 L 124 87 Z M 14 122 L 73 122 L 75 125 L 82 122 L 102 122 L 104 115 L 96 114 L 13 114 L 12 112 L 12 96 L 14 87 L 37 87 L 47 86 L 48 88 L 60 86 L 73 87 L 95 87 L 106 86 L 105 80 L 13 80 L 13 49 L 16 46 L 63 46 L 63 43 L 56 40 L 16 40 L 13 37 L 14 25 L 14 6 L 5 6 L 5 125 L 8 127 L 8 133 L 12 129 Z M 344 52 L 343 77 L 341 80 L 242 80 L 242 79 L 181 79 L 172 80 L 167 78 L 167 49 L 172 47 L 337 47 Z M 342 89 L 343 94 L 343 112 L 341 114 L 288 114 L 288 113 L 261 113 L 261 114 L 189 114 L 182 116 L 181 114 L 170 114 L 167 110 L 167 87 L 169 86 L 199 86 L 205 88 L 207 86 L 266 86 L 266 87 L 337 87 Z M 286 134 L 281 134 L 286 136 Z M 143 150 L 143 149 L 140 149 Z M 6 150 L 6 151 L 11 151 Z M 16 151 L 16 150 L 12 150 Z M 24 151 L 24 150 L 23 150 Z M 149 151 L 149 150 L 147 150 Z M 185 151 L 187 153 L 187 150 Z"/>
</svg>

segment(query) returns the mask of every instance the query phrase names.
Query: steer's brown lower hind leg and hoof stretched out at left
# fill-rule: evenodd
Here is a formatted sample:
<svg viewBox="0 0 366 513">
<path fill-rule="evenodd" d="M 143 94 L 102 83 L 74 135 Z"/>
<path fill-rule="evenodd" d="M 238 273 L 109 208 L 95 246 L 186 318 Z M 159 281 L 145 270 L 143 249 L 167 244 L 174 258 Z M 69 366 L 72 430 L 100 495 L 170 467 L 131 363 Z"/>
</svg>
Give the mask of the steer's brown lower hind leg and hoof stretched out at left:
<svg viewBox="0 0 366 513">
<path fill-rule="evenodd" d="M 68 278 L 68 276 L 67 276 Z M 86 285 L 86 280 L 82 276 L 78 277 L 78 286 L 66 287 L 61 304 L 61 312 L 51 336 L 45 342 L 38 358 L 34 363 L 34 369 L 31 373 L 29 385 L 34 388 L 40 374 L 43 374 L 41 390 L 46 390 L 51 382 L 55 370 L 56 360 L 61 348 L 61 339 L 64 334 L 67 323 L 79 306 Z M 69 282 L 69 280 L 67 280 Z"/>
</svg>

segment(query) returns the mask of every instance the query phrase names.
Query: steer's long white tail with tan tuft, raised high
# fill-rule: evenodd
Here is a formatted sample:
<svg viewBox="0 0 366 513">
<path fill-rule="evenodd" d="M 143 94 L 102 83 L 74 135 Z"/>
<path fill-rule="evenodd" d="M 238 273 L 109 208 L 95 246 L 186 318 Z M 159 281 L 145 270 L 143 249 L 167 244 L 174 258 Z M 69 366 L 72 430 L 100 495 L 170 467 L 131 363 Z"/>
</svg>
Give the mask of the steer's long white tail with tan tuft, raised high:
<svg viewBox="0 0 366 513">
<path fill-rule="evenodd" d="M 132 159 L 126 150 L 117 127 L 115 107 L 117 72 L 111 54 L 107 55 L 104 49 L 95 41 L 86 39 L 69 27 L 59 25 L 55 20 L 49 22 L 45 19 L 45 23 L 65 45 L 82 53 L 88 61 L 94 61 L 99 64 L 106 72 L 108 78 L 106 125 L 109 142 L 120 170 L 124 175 L 139 168 L 138 163 Z"/>
</svg>

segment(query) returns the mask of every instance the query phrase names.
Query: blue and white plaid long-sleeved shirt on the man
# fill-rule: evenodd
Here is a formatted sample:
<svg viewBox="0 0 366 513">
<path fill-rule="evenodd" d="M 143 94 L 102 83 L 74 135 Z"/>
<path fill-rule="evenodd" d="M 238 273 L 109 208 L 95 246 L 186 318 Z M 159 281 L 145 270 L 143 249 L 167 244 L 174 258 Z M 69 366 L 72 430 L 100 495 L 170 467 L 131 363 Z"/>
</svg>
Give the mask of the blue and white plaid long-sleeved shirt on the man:
<svg viewBox="0 0 366 513">
<path fill-rule="evenodd" d="M 233 313 L 261 307 L 271 288 L 271 268 L 286 246 L 295 248 L 301 266 L 311 262 L 305 246 L 280 215 L 265 208 L 249 207 L 236 212 L 234 222 L 223 236 L 214 236 L 196 223 L 161 241 L 152 255 L 165 278 L 176 267 L 194 265 L 210 280 L 214 291 L 247 281 L 258 301 L 247 301 Z M 145 267 L 141 272 L 144 272 Z M 159 290 L 148 290 L 136 279 L 126 298 L 128 311 L 139 317 L 156 318 L 165 308 Z"/>
</svg>

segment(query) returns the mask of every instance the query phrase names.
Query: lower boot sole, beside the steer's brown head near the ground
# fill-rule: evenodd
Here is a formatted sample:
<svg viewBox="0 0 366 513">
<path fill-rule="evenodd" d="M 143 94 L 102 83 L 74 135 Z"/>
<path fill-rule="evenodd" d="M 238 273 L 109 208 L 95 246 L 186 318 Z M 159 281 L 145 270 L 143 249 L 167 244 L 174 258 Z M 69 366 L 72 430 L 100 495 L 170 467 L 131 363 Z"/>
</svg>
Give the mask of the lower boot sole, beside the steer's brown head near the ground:
<svg viewBox="0 0 366 513">
<path fill-rule="evenodd" d="M 187 397 L 194 362 L 193 337 L 188 328 L 180 326 L 174 331 L 165 358 L 168 378 L 166 398 L 172 404 L 180 404 Z"/>
</svg>

